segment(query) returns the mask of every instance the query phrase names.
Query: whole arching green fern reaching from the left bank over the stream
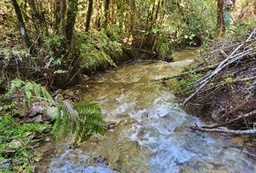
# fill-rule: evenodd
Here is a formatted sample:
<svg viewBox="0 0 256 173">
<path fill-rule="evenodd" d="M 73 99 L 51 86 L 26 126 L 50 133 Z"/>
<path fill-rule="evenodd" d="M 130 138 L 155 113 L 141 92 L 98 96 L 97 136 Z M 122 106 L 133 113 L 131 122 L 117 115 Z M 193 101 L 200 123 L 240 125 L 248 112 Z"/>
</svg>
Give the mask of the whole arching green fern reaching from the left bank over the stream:
<svg viewBox="0 0 256 173">
<path fill-rule="evenodd" d="M 58 108 L 53 127 L 56 138 L 60 132 L 64 136 L 73 133 L 75 141 L 80 140 L 82 142 L 90 138 L 93 133 L 104 133 L 105 123 L 101 107 L 95 102 L 85 102 L 82 105 L 73 105 L 67 100 L 55 102 L 45 87 L 33 81 L 15 79 L 12 81 L 7 94 L 11 95 L 17 90 L 25 92 L 24 97 L 28 102 L 36 102 L 39 99 L 40 102 L 47 102 Z"/>
</svg>

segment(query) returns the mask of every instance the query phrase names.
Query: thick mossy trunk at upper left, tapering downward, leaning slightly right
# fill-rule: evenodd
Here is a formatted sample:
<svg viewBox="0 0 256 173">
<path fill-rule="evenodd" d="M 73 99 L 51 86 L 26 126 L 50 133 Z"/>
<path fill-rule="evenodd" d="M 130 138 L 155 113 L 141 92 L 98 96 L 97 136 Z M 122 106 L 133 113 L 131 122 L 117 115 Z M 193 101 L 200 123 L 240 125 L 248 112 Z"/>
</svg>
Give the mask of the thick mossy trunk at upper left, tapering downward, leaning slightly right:
<svg viewBox="0 0 256 173">
<path fill-rule="evenodd" d="M 69 0 L 69 6 L 67 9 L 67 24 L 66 24 L 66 37 L 67 37 L 67 45 L 72 43 L 73 30 L 75 18 L 77 15 L 78 0 Z"/>
</svg>

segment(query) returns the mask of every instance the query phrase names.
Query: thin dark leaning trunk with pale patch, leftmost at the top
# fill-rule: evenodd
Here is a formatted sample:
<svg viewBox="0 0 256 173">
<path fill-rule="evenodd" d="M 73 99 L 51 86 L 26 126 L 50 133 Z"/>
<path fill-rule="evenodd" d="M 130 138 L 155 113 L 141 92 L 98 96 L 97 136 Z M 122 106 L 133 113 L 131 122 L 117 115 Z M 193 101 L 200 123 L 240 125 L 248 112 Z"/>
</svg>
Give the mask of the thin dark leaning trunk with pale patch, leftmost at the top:
<svg viewBox="0 0 256 173">
<path fill-rule="evenodd" d="M 16 0 L 12 0 L 12 5 L 14 7 L 17 19 L 20 23 L 20 32 L 21 32 L 21 35 L 23 37 L 23 40 L 25 41 L 25 44 L 27 45 L 27 48 L 29 49 L 30 54 L 33 54 L 34 53 L 34 48 L 33 48 L 33 45 L 30 41 L 30 37 L 27 35 L 27 29 L 25 27 L 25 23 L 24 23 L 22 14 L 20 12 L 20 6 L 19 6 L 19 4 L 17 4 Z"/>
</svg>

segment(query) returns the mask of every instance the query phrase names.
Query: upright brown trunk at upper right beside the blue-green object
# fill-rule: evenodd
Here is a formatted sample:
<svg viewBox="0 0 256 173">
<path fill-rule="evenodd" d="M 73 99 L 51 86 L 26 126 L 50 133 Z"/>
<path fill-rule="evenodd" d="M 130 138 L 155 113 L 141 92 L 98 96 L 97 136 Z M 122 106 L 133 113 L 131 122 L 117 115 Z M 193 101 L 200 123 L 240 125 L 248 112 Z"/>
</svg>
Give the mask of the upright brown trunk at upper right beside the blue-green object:
<svg viewBox="0 0 256 173">
<path fill-rule="evenodd" d="M 218 30 L 220 37 L 225 33 L 225 14 L 225 0 L 218 0 Z"/>
</svg>

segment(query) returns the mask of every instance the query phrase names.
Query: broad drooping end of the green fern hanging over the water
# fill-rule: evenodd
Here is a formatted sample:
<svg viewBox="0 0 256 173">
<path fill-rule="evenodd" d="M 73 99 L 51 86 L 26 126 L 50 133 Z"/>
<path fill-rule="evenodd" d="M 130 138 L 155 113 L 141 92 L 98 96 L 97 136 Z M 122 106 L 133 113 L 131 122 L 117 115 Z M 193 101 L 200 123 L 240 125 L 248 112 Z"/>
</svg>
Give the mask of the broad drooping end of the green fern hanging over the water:
<svg viewBox="0 0 256 173">
<path fill-rule="evenodd" d="M 63 102 L 60 105 L 58 116 L 54 124 L 54 135 L 57 138 L 59 131 L 64 136 L 74 133 L 75 141 L 85 141 L 93 133 L 103 134 L 105 123 L 98 104 L 85 102 L 83 105 L 72 105 L 70 102 Z"/>
</svg>

